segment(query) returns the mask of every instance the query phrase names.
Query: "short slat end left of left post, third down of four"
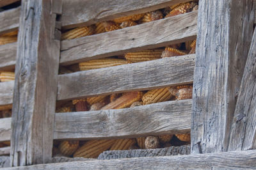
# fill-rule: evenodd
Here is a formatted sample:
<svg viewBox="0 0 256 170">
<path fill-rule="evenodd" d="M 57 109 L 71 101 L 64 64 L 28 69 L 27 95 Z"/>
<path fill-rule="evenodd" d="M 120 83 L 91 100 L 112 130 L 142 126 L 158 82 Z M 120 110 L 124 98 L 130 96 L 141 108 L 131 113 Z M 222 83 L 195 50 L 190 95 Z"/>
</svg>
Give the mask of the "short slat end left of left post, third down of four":
<svg viewBox="0 0 256 170">
<path fill-rule="evenodd" d="M 0 105 L 12 104 L 14 81 L 0 82 Z"/>
</svg>

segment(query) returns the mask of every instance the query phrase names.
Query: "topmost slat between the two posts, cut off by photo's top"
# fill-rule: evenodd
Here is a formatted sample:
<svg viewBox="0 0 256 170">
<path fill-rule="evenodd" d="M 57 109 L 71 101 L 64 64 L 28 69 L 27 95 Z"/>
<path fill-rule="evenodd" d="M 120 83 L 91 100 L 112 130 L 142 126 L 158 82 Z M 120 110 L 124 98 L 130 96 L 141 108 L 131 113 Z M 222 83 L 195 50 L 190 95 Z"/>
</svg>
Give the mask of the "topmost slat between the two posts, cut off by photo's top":
<svg viewBox="0 0 256 170">
<path fill-rule="evenodd" d="M 62 26 L 67 29 L 76 26 L 95 24 L 136 13 L 157 10 L 189 0 L 63 0 Z"/>
</svg>

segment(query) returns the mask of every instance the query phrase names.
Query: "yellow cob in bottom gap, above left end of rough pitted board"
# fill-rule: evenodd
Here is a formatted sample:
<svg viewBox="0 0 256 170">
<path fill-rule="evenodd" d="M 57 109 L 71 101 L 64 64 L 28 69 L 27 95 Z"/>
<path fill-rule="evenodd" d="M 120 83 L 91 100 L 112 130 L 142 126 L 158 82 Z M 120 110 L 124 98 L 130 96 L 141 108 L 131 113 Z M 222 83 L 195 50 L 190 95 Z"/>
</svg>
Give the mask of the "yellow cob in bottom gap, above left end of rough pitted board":
<svg viewBox="0 0 256 170">
<path fill-rule="evenodd" d="M 135 139 L 117 139 L 109 150 L 129 150 L 135 143 Z"/>
</svg>

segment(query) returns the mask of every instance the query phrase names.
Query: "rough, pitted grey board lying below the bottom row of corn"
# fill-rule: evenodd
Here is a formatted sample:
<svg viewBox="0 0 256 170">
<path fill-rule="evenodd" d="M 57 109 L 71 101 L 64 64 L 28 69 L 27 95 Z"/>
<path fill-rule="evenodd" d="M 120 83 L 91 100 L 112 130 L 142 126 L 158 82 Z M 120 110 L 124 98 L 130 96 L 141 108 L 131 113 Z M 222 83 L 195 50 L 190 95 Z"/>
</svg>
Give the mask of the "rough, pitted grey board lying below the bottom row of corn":
<svg viewBox="0 0 256 170">
<path fill-rule="evenodd" d="M 136 157 L 162 157 L 173 155 L 189 155 L 190 145 L 171 146 L 169 148 L 157 148 L 150 150 L 109 150 L 100 153 L 98 159 L 136 158 Z"/>
</svg>

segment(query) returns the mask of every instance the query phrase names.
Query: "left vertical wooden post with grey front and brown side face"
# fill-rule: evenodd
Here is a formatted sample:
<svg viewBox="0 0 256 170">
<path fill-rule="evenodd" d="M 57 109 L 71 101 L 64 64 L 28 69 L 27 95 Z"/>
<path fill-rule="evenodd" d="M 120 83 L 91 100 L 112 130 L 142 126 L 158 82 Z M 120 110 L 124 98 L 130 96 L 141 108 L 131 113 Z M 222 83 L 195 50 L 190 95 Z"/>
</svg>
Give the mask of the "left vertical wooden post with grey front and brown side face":
<svg viewBox="0 0 256 170">
<path fill-rule="evenodd" d="M 60 39 L 61 1 L 23 0 L 13 92 L 11 166 L 51 159 Z M 60 36 L 59 36 L 60 38 Z M 58 38 L 57 38 L 58 39 Z"/>
</svg>

